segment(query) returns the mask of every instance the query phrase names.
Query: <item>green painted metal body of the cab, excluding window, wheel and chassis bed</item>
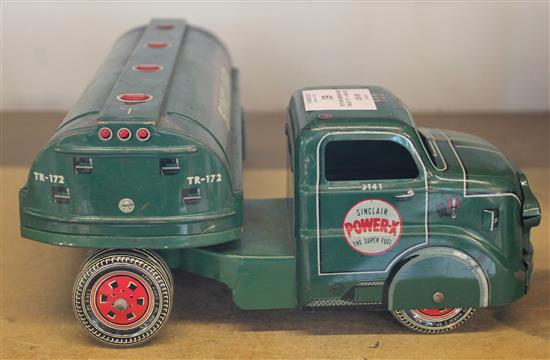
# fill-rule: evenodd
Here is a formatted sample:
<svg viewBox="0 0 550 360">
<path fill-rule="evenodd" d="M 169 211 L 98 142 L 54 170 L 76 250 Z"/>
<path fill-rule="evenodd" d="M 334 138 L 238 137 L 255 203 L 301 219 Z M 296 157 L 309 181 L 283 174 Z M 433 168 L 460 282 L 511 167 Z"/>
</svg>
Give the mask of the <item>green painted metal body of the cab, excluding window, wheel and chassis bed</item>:
<svg viewBox="0 0 550 360">
<path fill-rule="evenodd" d="M 313 103 L 322 103 L 332 95 L 318 90 L 327 89 L 342 109 L 329 104 L 306 110 L 308 92 L 317 92 Z M 369 90 L 373 108 L 344 110 L 349 105 L 345 89 L 350 97 Z M 446 293 L 448 307 L 501 305 L 525 294 L 532 272 L 529 233 L 540 222 L 540 207 L 524 175 L 493 145 L 469 134 L 417 128 L 399 99 L 377 86 L 298 91 L 290 101 L 287 133 L 301 306 L 319 304 L 319 299 L 349 302 L 357 284 L 368 281 L 384 282 L 390 309 L 438 307 L 432 300 L 436 289 Z M 326 149 L 336 141 L 395 142 L 410 153 L 418 176 L 327 179 Z M 368 167 L 380 155 L 356 153 L 349 161 Z M 356 227 L 349 218 L 356 220 Z M 401 226 L 398 239 L 386 231 L 392 220 Z M 375 221 L 372 229 L 370 221 Z M 386 233 L 374 240 L 365 235 L 374 229 Z M 356 230 L 363 234 L 353 237 Z M 385 251 L 362 252 L 378 246 L 367 241 L 379 241 Z M 439 257 L 420 261 L 426 254 Z M 461 257 L 471 261 L 457 260 Z M 413 261 L 418 263 L 411 266 Z M 485 298 L 480 296 L 480 274 L 486 281 Z M 380 301 L 375 295 L 370 300 Z"/>
</svg>

